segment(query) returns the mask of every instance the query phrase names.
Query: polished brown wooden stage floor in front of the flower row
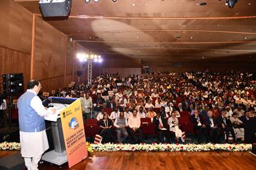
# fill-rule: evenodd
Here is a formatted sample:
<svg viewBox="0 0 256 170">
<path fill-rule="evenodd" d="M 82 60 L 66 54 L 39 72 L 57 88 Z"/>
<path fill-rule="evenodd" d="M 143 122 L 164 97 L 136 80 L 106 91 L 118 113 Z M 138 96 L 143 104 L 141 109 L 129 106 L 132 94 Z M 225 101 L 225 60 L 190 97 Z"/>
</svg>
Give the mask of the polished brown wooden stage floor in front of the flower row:
<svg viewBox="0 0 256 170">
<path fill-rule="evenodd" d="M 0 157 L 18 151 L 0 151 Z M 39 169 L 54 170 L 58 166 L 43 163 Z M 63 170 L 69 169 L 64 165 Z M 84 169 L 256 169 L 256 156 L 243 152 L 95 152 L 71 170 Z"/>
</svg>

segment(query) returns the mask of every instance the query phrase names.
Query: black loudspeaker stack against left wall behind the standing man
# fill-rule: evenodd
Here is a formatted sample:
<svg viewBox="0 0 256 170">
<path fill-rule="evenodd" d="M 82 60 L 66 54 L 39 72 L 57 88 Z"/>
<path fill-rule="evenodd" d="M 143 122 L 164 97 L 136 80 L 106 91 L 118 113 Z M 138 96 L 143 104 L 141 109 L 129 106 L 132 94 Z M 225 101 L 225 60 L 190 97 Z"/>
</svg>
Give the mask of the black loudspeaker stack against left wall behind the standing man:
<svg viewBox="0 0 256 170">
<path fill-rule="evenodd" d="M 3 93 L 5 96 L 16 96 L 24 92 L 23 74 L 3 74 Z"/>
</svg>

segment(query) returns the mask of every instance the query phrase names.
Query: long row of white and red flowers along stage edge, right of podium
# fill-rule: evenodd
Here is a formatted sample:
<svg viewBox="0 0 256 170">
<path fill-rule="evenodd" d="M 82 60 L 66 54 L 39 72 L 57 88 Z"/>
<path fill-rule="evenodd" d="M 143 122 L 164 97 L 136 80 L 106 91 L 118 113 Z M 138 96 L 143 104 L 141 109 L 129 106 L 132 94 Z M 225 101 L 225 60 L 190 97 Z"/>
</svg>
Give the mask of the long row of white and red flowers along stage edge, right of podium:
<svg viewBox="0 0 256 170">
<path fill-rule="evenodd" d="M 251 144 L 92 144 L 95 151 L 250 151 Z"/>
</svg>

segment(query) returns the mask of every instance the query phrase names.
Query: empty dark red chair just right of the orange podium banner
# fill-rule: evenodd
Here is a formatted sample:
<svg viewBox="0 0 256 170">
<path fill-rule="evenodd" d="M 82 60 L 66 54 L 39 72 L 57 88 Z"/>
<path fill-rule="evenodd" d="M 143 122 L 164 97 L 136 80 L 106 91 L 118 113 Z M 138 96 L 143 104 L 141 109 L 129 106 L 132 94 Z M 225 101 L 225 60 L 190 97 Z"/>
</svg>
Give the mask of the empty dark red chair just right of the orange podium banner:
<svg viewBox="0 0 256 170">
<path fill-rule="evenodd" d="M 84 125 L 84 131 L 87 137 L 94 137 L 98 134 L 99 126 L 96 119 L 87 119 L 86 124 Z"/>
</svg>

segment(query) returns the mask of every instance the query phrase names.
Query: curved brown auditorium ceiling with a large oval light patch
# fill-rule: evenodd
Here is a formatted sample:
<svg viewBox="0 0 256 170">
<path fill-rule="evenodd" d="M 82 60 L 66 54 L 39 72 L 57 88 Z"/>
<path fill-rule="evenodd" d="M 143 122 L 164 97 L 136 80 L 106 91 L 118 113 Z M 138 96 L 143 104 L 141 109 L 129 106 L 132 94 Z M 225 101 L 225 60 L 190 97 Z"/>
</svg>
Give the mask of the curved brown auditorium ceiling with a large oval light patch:
<svg viewBox="0 0 256 170">
<path fill-rule="evenodd" d="M 15 0 L 39 17 L 38 0 Z M 201 5 L 206 2 L 206 5 Z M 143 61 L 256 61 L 256 1 L 73 0 L 49 24 L 104 58 Z"/>
</svg>

